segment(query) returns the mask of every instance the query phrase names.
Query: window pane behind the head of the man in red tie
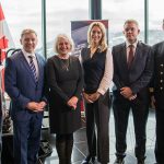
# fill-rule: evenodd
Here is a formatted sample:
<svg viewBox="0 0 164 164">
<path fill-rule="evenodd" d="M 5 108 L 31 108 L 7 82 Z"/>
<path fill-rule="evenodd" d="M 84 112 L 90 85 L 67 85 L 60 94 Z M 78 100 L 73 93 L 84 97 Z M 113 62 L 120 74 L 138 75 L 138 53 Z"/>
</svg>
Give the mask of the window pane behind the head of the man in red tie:
<svg viewBox="0 0 164 164">
<path fill-rule="evenodd" d="M 109 46 L 124 42 L 124 23 L 128 19 L 139 22 L 141 34 L 139 39 L 144 42 L 144 1 L 143 0 L 102 0 L 103 19 L 109 20 Z"/>
</svg>

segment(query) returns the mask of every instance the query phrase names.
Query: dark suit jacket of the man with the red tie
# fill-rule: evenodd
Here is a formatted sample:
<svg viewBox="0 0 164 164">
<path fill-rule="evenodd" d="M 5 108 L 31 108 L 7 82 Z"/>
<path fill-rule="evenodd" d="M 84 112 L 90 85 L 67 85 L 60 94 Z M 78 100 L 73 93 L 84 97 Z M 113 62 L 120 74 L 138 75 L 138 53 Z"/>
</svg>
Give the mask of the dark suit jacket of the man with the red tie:
<svg viewBox="0 0 164 164">
<path fill-rule="evenodd" d="M 138 43 L 134 59 L 128 69 L 126 43 L 113 47 L 114 83 L 119 90 L 129 86 L 136 94 L 148 86 L 153 72 L 153 56 L 150 46 Z"/>
</svg>

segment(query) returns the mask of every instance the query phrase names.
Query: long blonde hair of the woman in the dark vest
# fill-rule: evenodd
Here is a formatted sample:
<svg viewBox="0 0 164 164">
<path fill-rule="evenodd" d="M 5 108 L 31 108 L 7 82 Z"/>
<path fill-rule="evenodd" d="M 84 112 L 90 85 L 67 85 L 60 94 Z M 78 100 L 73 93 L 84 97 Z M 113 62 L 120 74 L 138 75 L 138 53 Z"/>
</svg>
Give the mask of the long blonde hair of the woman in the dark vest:
<svg viewBox="0 0 164 164">
<path fill-rule="evenodd" d="M 106 48 L 107 48 L 107 39 L 106 39 L 106 28 L 105 28 L 105 25 L 101 22 L 93 22 L 90 24 L 89 26 L 89 30 L 87 30 L 87 43 L 89 43 L 89 46 L 92 47 L 92 38 L 91 38 L 91 32 L 92 32 L 92 28 L 94 26 L 97 26 L 101 28 L 102 31 L 102 39 L 99 42 L 99 49 L 101 51 L 104 51 Z"/>
</svg>

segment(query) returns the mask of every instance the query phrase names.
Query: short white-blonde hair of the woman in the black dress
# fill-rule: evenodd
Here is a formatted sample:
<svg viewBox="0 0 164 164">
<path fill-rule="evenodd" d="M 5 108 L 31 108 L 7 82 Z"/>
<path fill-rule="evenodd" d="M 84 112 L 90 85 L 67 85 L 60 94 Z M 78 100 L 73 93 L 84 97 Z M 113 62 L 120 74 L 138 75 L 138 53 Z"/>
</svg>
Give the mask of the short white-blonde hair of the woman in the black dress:
<svg viewBox="0 0 164 164">
<path fill-rule="evenodd" d="M 65 38 L 65 39 L 67 39 L 67 40 L 69 42 L 69 44 L 70 44 L 70 46 L 71 46 L 70 51 L 72 51 L 72 50 L 74 49 L 74 43 L 73 43 L 72 38 L 69 37 L 69 36 L 66 35 L 66 34 L 59 34 L 59 35 L 57 35 L 57 37 L 56 37 L 56 39 L 55 39 L 54 50 L 55 50 L 56 52 L 59 54 L 58 43 L 59 43 L 59 39 L 60 39 L 60 38 Z"/>
</svg>

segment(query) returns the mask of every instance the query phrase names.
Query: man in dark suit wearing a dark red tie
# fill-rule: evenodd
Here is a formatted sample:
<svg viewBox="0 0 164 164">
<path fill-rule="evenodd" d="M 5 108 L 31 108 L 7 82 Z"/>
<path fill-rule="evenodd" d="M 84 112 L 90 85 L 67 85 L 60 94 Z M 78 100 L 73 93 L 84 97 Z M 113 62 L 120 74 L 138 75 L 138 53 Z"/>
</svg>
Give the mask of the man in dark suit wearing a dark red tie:
<svg viewBox="0 0 164 164">
<path fill-rule="evenodd" d="M 152 78 L 153 58 L 151 47 L 139 42 L 140 33 L 136 20 L 124 24 L 126 43 L 113 47 L 114 58 L 114 117 L 116 132 L 116 161 L 124 164 L 126 133 L 130 108 L 132 109 L 138 164 L 145 159 L 145 126 L 149 114 L 149 82 Z"/>
</svg>

